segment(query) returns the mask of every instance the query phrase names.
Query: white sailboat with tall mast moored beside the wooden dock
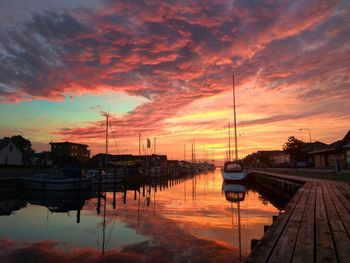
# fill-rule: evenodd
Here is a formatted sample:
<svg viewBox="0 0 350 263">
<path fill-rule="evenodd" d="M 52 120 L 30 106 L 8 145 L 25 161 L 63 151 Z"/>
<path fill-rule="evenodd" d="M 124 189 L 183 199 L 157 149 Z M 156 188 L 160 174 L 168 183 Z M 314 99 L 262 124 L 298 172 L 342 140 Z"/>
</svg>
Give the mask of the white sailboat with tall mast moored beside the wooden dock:
<svg viewBox="0 0 350 263">
<path fill-rule="evenodd" d="M 235 159 L 231 160 L 231 149 L 229 143 L 229 157 L 222 169 L 222 178 L 224 181 L 243 181 L 247 179 L 247 172 L 244 170 L 243 164 L 238 161 L 237 148 L 237 118 L 236 118 L 236 97 L 235 97 L 235 77 L 232 76 L 232 95 L 233 95 L 233 114 L 234 114 L 234 130 L 235 130 Z M 229 134 L 230 139 L 230 134 Z"/>
</svg>

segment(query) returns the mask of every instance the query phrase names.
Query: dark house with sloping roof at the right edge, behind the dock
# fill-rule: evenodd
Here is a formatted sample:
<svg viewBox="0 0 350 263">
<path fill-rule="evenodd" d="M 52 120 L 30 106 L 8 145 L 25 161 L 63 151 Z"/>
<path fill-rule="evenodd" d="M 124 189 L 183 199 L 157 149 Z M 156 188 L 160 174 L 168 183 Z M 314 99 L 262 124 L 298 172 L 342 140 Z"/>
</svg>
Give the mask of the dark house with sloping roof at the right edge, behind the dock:
<svg viewBox="0 0 350 263">
<path fill-rule="evenodd" d="M 350 130 L 342 140 L 312 151 L 309 155 L 317 168 L 335 167 L 338 163 L 342 169 L 350 169 Z"/>
</svg>

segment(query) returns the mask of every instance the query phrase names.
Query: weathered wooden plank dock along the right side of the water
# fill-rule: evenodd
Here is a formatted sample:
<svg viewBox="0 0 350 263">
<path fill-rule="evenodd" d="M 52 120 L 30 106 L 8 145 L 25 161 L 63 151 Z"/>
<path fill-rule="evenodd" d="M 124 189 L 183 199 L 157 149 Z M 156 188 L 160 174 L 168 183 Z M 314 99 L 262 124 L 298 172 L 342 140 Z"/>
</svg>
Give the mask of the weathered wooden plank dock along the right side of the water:
<svg viewBox="0 0 350 263">
<path fill-rule="evenodd" d="M 305 179 L 246 262 L 350 262 L 350 185 Z"/>
</svg>

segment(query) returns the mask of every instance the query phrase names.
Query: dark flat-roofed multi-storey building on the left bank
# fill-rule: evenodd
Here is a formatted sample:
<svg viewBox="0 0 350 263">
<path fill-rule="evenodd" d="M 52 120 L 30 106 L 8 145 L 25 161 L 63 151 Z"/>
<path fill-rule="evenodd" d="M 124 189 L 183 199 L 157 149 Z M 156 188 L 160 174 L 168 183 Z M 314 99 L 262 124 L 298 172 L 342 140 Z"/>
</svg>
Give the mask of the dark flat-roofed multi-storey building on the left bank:
<svg viewBox="0 0 350 263">
<path fill-rule="evenodd" d="M 76 159 L 82 163 L 86 163 L 90 158 L 89 145 L 73 143 L 73 142 L 50 142 L 51 154 L 54 158 L 70 158 Z"/>
</svg>

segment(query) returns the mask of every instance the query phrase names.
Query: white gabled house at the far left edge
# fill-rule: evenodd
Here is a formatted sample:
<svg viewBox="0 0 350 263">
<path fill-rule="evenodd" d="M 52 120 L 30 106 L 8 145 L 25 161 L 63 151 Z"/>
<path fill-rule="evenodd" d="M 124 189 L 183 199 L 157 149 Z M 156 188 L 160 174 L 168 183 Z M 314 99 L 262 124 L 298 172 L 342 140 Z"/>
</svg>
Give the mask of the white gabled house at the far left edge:
<svg viewBox="0 0 350 263">
<path fill-rule="evenodd" d="M 0 140 L 0 165 L 22 165 L 23 153 L 11 141 L 11 139 Z"/>
</svg>

